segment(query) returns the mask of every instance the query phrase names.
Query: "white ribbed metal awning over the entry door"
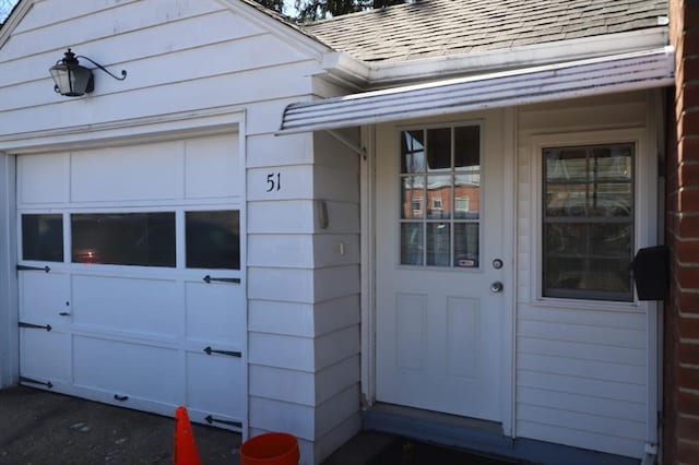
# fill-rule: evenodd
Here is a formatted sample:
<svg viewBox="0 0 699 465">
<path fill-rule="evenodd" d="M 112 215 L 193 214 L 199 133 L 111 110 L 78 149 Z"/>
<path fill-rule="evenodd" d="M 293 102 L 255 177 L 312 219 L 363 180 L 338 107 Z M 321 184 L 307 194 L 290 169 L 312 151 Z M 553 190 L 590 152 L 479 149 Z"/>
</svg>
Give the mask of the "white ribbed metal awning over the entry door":
<svg viewBox="0 0 699 465">
<path fill-rule="evenodd" d="M 289 105 L 280 134 L 664 87 L 674 52 L 660 48 Z"/>
</svg>

